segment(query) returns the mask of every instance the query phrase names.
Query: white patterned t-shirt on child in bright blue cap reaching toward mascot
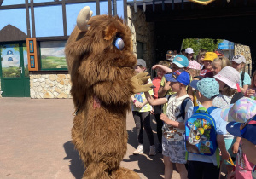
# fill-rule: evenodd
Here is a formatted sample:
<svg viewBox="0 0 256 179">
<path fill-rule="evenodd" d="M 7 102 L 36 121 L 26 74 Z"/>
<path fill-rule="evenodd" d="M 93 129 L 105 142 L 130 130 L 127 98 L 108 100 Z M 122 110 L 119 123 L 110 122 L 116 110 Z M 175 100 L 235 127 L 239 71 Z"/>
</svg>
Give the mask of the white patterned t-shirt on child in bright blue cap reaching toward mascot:
<svg viewBox="0 0 256 179">
<path fill-rule="evenodd" d="M 169 96 L 170 95 L 167 95 L 166 98 L 168 99 Z M 166 115 L 170 120 L 184 123 L 188 118 L 190 118 L 190 116 L 192 116 L 194 105 L 191 100 L 187 101 L 186 107 L 184 109 L 181 109 L 182 102 L 187 97 L 189 97 L 189 95 L 183 95 L 177 98 L 177 94 L 174 94 L 169 98 L 167 102 Z M 183 110 L 183 113 L 185 114 L 184 118 L 183 116 L 176 118 L 177 116 L 179 116 L 179 114 L 181 114 L 181 110 Z M 173 127 L 172 125 L 165 123 L 162 127 L 162 130 L 163 136 L 165 136 L 168 141 L 183 140 L 183 134 L 185 132 L 185 129 Z"/>
</svg>

